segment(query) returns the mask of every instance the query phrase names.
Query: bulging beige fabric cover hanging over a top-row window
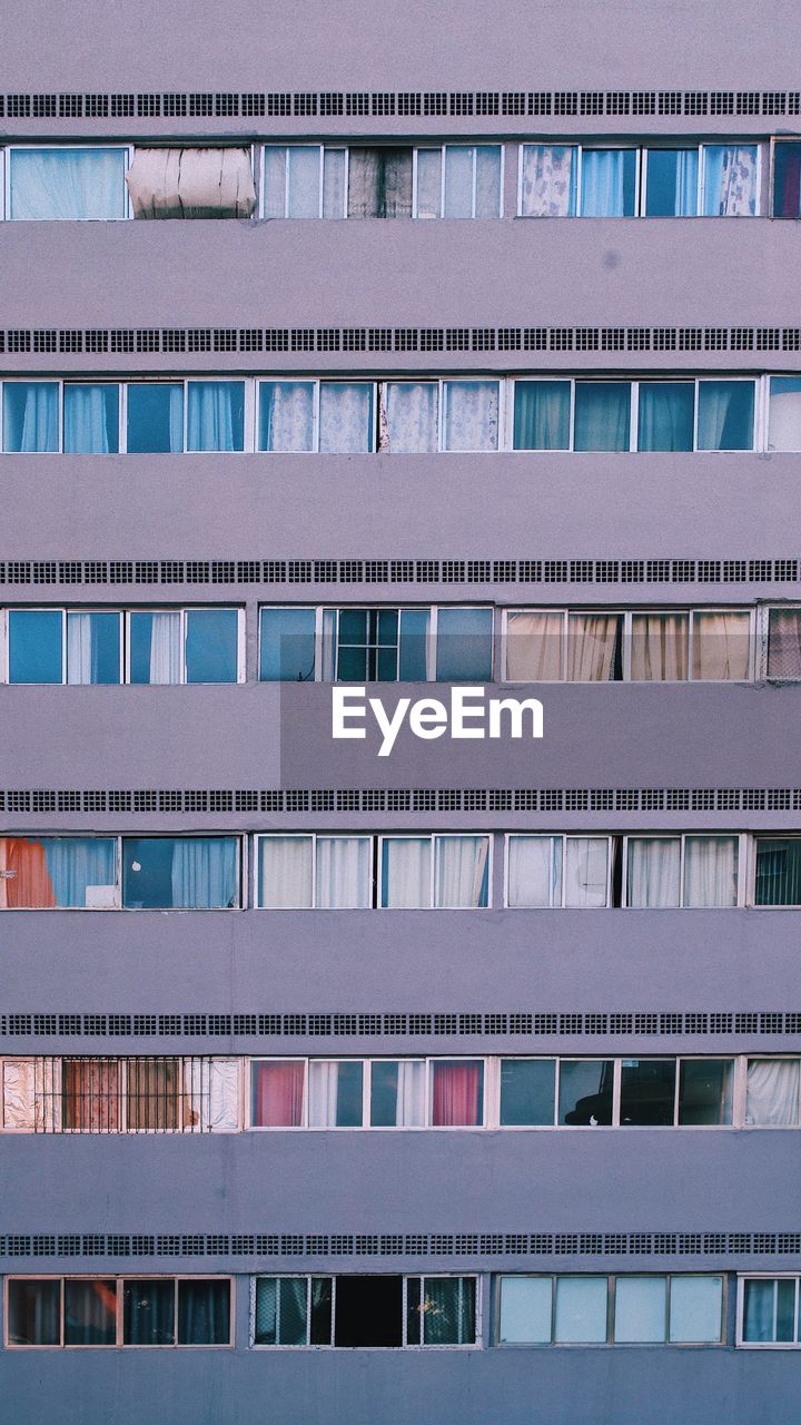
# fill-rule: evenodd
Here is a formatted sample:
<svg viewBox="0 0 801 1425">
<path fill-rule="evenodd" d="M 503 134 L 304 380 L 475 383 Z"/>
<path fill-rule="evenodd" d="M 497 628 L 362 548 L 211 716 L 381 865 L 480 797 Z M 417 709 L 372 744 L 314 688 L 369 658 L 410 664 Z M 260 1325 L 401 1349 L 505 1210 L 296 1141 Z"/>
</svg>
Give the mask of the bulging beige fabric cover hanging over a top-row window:
<svg viewBox="0 0 801 1425">
<path fill-rule="evenodd" d="M 247 148 L 137 148 L 125 174 L 135 218 L 249 218 Z"/>
</svg>

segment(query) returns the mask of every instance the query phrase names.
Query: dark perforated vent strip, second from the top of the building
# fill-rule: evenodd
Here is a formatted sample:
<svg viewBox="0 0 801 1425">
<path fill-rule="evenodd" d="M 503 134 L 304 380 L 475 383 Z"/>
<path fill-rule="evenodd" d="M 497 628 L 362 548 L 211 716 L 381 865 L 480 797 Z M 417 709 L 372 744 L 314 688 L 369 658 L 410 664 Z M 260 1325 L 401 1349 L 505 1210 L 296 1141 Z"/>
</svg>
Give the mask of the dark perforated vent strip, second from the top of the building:
<svg viewBox="0 0 801 1425">
<path fill-rule="evenodd" d="M 177 352 L 798 352 L 800 326 L 6 328 L 6 355 Z"/>
</svg>

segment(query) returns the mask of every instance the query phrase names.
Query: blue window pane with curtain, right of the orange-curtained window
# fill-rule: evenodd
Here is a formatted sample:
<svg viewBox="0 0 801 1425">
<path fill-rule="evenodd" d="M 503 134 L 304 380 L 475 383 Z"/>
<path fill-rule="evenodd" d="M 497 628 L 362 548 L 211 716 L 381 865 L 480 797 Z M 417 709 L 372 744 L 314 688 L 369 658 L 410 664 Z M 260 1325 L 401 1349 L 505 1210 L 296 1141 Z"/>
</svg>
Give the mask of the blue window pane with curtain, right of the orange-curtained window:
<svg viewBox="0 0 801 1425">
<path fill-rule="evenodd" d="M 123 905 L 219 911 L 238 905 L 235 836 L 123 839 Z"/>
</svg>

